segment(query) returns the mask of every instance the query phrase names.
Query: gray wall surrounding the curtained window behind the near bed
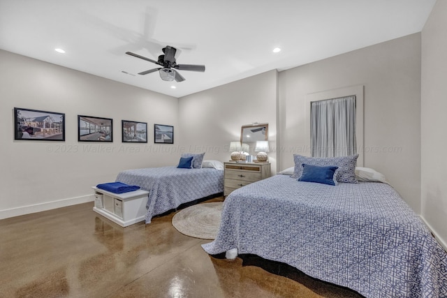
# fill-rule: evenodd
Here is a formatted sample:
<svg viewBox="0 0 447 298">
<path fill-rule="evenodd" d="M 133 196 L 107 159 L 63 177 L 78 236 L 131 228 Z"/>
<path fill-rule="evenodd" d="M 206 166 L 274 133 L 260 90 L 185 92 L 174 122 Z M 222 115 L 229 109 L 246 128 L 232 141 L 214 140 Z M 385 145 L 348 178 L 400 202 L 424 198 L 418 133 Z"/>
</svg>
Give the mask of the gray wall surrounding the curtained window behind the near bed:
<svg viewBox="0 0 447 298">
<path fill-rule="evenodd" d="M 307 94 L 363 85 L 365 167 L 420 213 L 420 33 L 279 73 L 279 167 L 309 155 Z"/>
</svg>

